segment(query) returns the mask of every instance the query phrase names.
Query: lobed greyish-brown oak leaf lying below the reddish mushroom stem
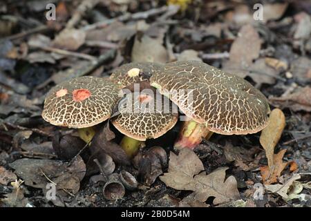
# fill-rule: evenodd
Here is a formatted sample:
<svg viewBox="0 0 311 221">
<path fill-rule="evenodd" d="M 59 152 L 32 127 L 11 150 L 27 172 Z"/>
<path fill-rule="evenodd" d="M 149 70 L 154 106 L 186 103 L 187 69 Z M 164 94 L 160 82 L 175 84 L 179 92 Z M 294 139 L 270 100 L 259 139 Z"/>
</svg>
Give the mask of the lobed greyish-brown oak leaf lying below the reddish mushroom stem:
<svg viewBox="0 0 311 221">
<path fill-rule="evenodd" d="M 169 172 L 160 180 L 173 189 L 194 191 L 195 200 L 205 202 L 213 196 L 214 204 L 219 204 L 240 198 L 234 176 L 225 180 L 226 170 L 222 167 L 206 175 L 198 156 L 189 148 L 183 148 L 178 156 L 171 152 Z"/>
</svg>

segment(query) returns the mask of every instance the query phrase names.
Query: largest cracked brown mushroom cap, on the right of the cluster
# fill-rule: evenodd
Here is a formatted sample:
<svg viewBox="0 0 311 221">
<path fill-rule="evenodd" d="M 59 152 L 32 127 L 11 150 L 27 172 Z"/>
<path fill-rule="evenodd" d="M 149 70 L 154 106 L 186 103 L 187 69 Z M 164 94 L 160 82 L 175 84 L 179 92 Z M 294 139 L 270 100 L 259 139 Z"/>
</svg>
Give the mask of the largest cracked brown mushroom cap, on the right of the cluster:
<svg viewBox="0 0 311 221">
<path fill-rule="evenodd" d="M 265 95 L 241 77 L 203 62 L 167 64 L 150 83 L 209 131 L 242 135 L 267 126 L 270 108 Z"/>
</svg>

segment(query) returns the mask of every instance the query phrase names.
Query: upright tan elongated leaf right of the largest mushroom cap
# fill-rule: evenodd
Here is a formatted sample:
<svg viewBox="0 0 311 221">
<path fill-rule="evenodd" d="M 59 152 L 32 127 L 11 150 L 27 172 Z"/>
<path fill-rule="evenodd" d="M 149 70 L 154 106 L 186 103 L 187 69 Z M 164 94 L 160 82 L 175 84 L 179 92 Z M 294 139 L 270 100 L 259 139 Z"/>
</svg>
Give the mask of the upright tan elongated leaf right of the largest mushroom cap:
<svg viewBox="0 0 311 221">
<path fill-rule="evenodd" d="M 261 131 L 261 137 L 259 138 L 261 146 L 263 146 L 263 148 L 265 149 L 265 155 L 267 156 L 267 161 L 270 169 L 272 169 L 274 166 L 274 148 L 279 142 L 284 128 L 284 113 L 279 108 L 273 109 L 273 111 L 270 113 L 269 124 L 266 128 L 263 129 L 263 131 Z"/>
</svg>

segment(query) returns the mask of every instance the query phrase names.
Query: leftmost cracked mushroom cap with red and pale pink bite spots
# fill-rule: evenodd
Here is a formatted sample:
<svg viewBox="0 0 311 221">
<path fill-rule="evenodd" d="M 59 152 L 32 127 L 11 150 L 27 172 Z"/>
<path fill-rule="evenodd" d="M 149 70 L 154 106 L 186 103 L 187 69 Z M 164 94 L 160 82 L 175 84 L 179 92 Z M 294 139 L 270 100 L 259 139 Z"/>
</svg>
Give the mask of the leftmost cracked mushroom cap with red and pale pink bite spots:
<svg viewBox="0 0 311 221">
<path fill-rule="evenodd" d="M 77 77 L 64 81 L 46 95 L 42 117 L 50 124 L 85 128 L 111 116 L 120 99 L 119 89 L 109 79 Z"/>
</svg>

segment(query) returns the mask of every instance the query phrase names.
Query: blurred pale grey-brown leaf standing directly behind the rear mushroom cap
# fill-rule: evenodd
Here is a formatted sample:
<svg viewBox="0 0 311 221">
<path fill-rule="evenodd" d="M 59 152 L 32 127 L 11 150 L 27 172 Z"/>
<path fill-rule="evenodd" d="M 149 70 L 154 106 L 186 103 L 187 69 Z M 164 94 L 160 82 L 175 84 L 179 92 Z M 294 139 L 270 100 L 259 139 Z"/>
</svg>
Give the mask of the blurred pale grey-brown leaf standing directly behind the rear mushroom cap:
<svg viewBox="0 0 311 221">
<path fill-rule="evenodd" d="M 157 39 L 152 39 L 148 35 L 142 37 L 136 35 L 131 58 L 133 62 L 148 61 L 164 64 L 169 61 L 166 48 Z"/>
</svg>

